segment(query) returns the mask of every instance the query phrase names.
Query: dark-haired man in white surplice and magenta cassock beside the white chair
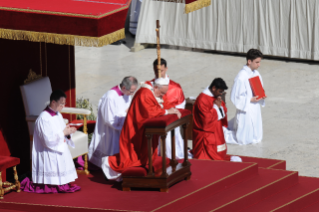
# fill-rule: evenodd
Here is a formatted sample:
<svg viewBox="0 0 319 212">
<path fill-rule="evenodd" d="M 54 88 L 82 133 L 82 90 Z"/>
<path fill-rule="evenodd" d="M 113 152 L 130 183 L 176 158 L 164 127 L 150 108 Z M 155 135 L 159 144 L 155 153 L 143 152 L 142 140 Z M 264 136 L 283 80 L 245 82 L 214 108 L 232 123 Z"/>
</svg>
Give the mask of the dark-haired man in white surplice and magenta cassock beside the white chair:
<svg viewBox="0 0 319 212">
<path fill-rule="evenodd" d="M 25 178 L 21 188 L 34 193 L 65 193 L 80 190 L 71 185 L 78 178 L 68 145 L 74 148 L 72 133 L 76 128 L 66 126 L 61 110 L 66 95 L 53 91 L 50 104 L 35 122 L 32 147 L 32 181 Z"/>
</svg>

